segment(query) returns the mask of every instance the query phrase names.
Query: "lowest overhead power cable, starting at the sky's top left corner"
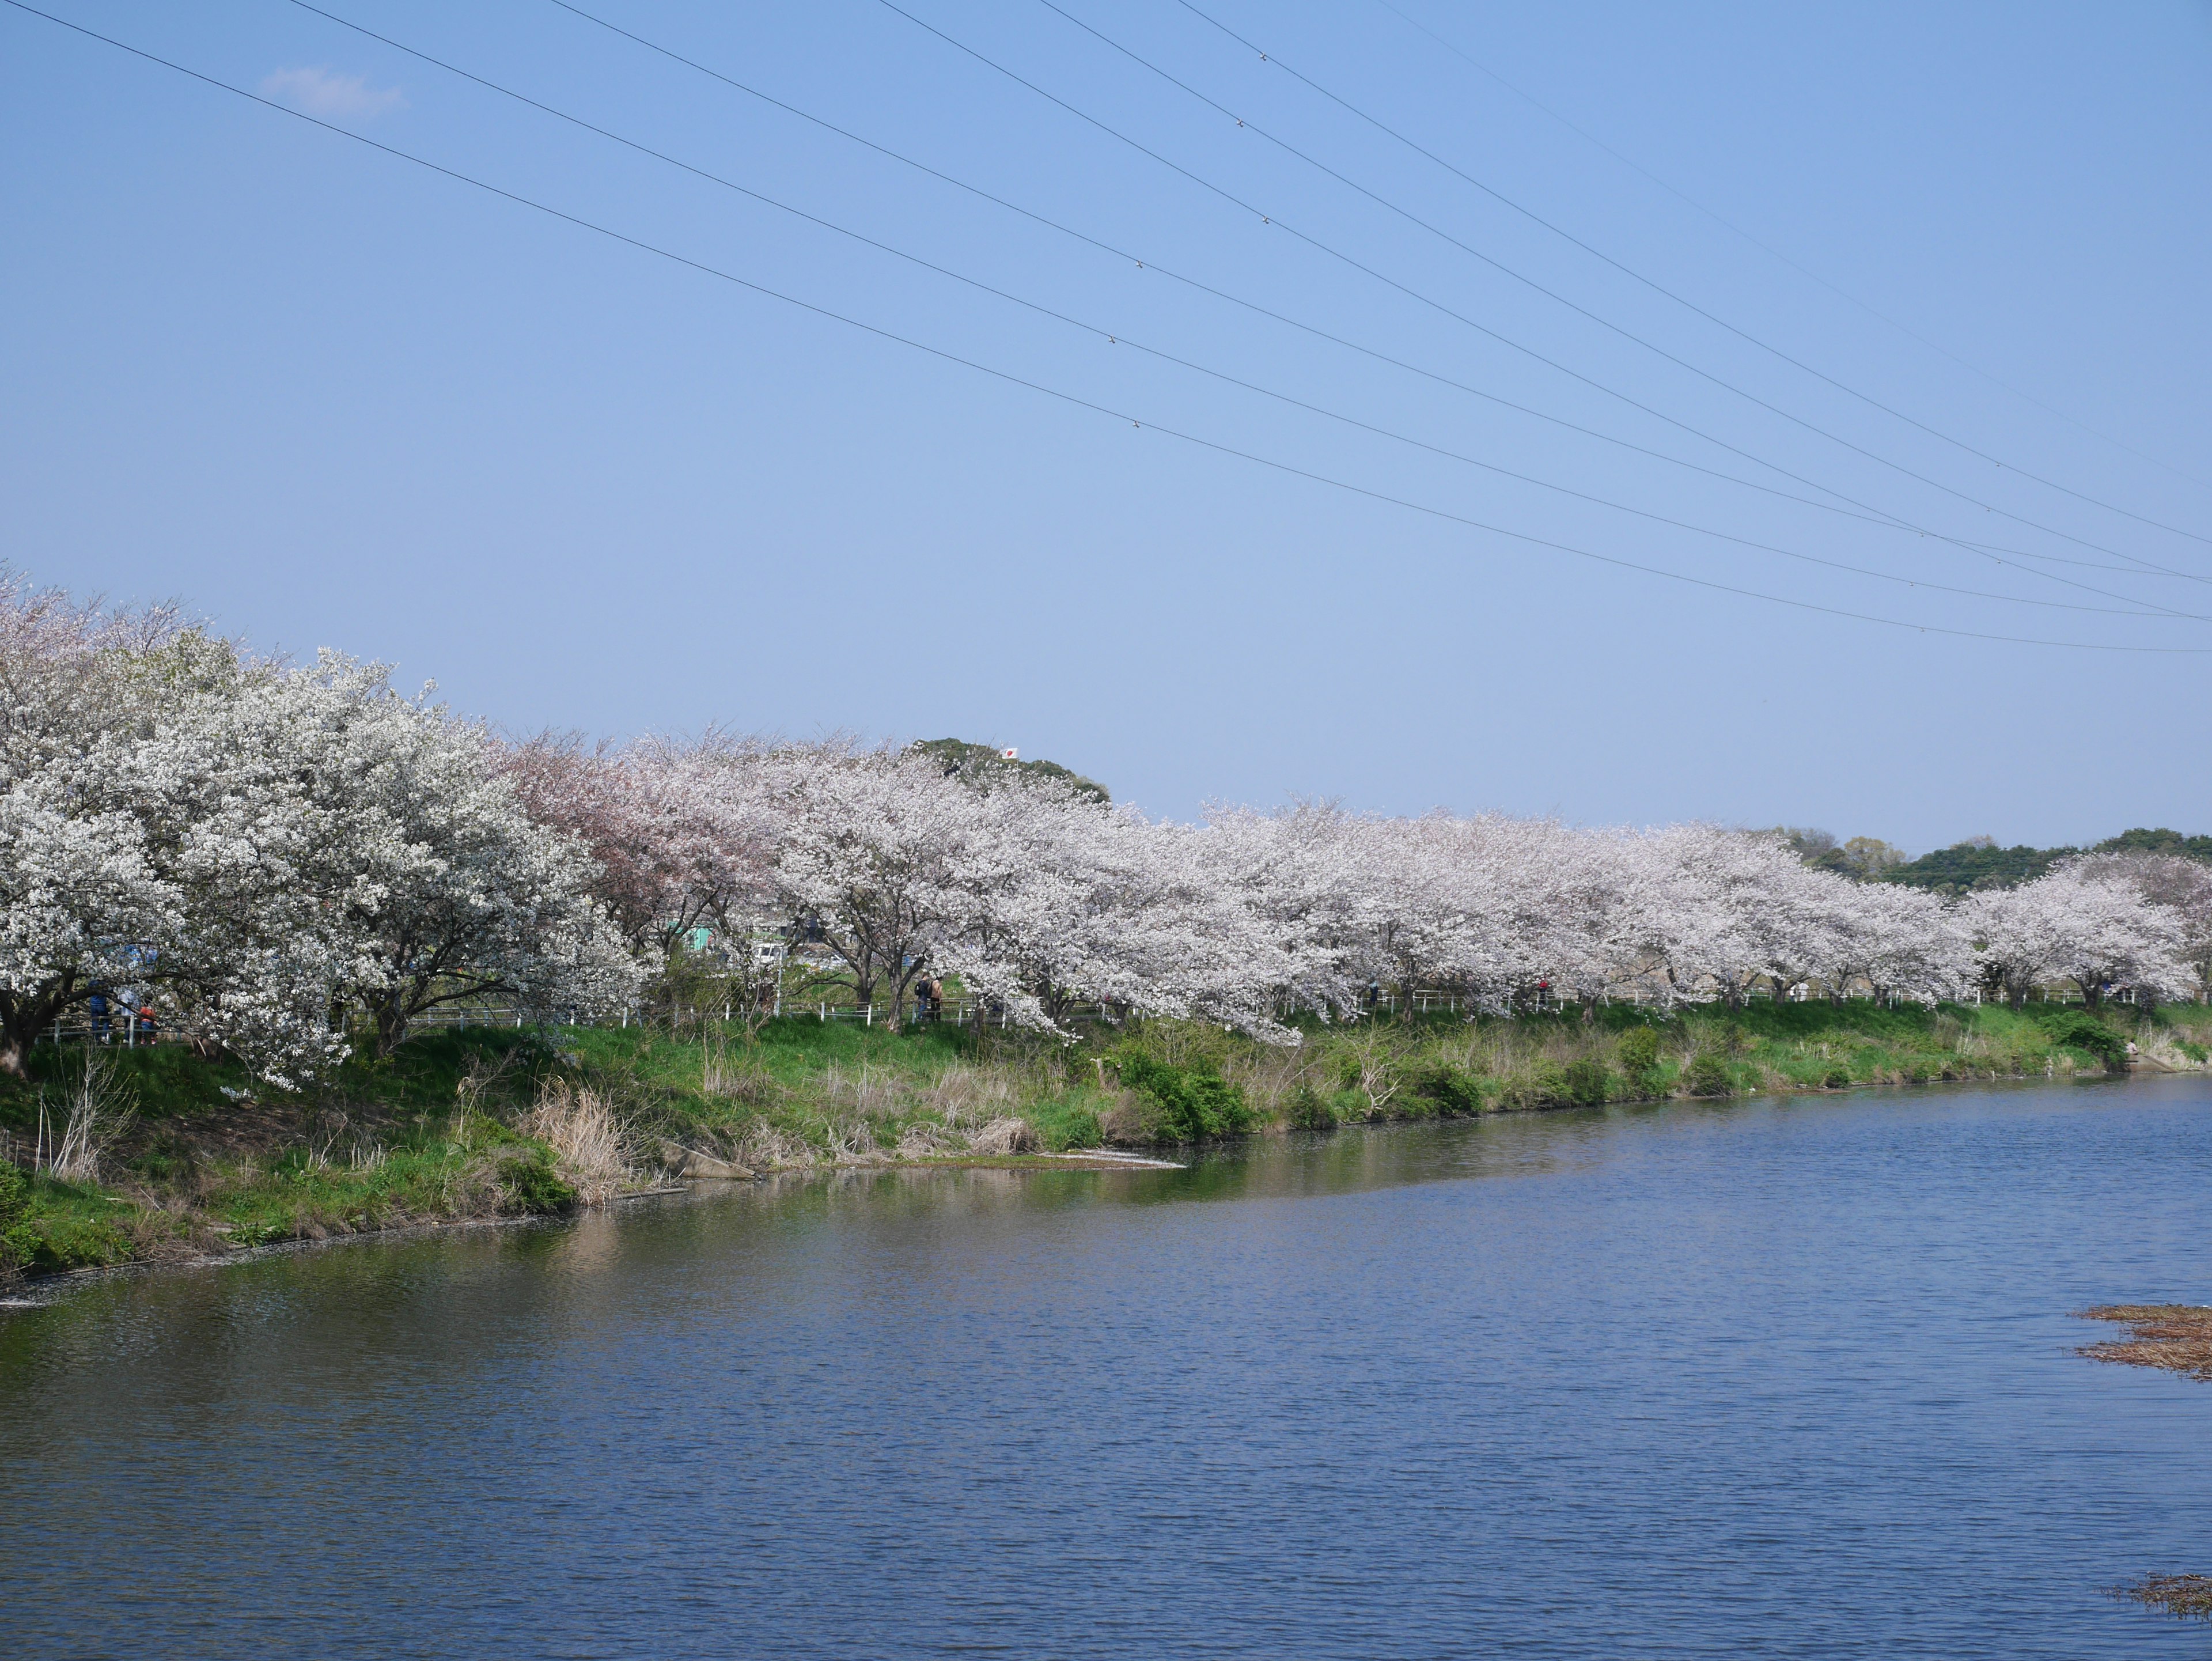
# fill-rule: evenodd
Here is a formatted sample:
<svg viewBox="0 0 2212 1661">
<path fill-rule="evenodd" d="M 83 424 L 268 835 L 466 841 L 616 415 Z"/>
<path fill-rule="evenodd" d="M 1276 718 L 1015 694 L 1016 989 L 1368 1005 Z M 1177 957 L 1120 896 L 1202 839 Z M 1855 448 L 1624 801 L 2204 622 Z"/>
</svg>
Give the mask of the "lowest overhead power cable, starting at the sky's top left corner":
<svg viewBox="0 0 2212 1661">
<path fill-rule="evenodd" d="M 958 352 L 947 352 L 945 347 L 927 345 L 927 343 L 916 341 L 911 336 L 896 334 L 894 330 L 885 330 L 885 327 L 880 327 L 876 323 L 865 323 L 865 321 L 847 316 L 843 312 L 834 312 L 834 310 L 830 310 L 825 305 L 816 305 L 812 301 L 803 301 L 803 299 L 799 299 L 794 294 L 783 294 L 779 290 L 772 290 L 772 288 L 768 288 L 763 283 L 754 283 L 754 281 L 750 281 L 745 276 L 739 276 L 734 272 L 721 270 L 717 265 L 708 265 L 706 261 L 697 261 L 697 259 L 690 259 L 688 254 L 679 254 L 679 252 L 675 252 L 670 248 L 659 248 L 657 243 L 648 243 L 648 241 L 644 241 L 639 237 L 630 237 L 628 232 L 613 230 L 608 226 L 595 223 L 591 219 L 584 219 L 580 215 L 566 212 L 562 208 L 553 208 L 551 203 L 535 201 L 533 197 L 524 197 L 524 195 L 520 195 L 515 190 L 507 190 L 507 188 L 489 184 L 484 179 L 476 179 L 476 177 L 471 177 L 467 173 L 460 173 L 458 168 L 449 168 L 449 166 L 442 166 L 440 161 L 431 161 L 429 157 L 414 155 L 411 150 L 400 150 L 400 148 L 396 148 L 392 144 L 380 144 L 378 139 L 372 139 L 372 137 L 367 137 L 363 133 L 352 133 L 352 130 L 347 130 L 343 126 L 336 126 L 334 122 L 323 122 L 323 119 L 319 119 L 314 115 L 307 115 L 305 111 L 290 108 L 290 106 L 279 104 L 279 102 L 274 102 L 270 97 L 261 97 L 259 93 L 252 93 L 252 91 L 248 91 L 243 86 L 234 86 L 234 84 L 230 84 L 226 80 L 219 80 L 215 75 L 206 75 L 206 73 L 197 71 L 197 69 L 188 69 L 186 64 L 179 64 L 175 60 L 168 60 L 168 58 L 161 58 L 157 53 L 144 51 L 142 46 L 133 46 L 133 44 L 128 44 L 124 40 L 117 40 L 115 35 L 104 35 L 97 29 L 88 29 L 84 24 L 71 22 L 69 18 L 58 18 L 51 11 L 40 11 L 38 7 L 27 4 L 27 0 L 4 0 L 4 4 L 13 7 L 15 11 L 24 11 L 24 13 L 33 15 L 33 18 L 44 18 L 46 22 L 60 24 L 62 29 L 69 29 L 71 33 L 84 35 L 86 40 L 97 40 L 97 42 L 102 42 L 106 46 L 115 46 L 117 51 L 131 53 L 133 58 L 139 58 L 144 62 L 148 62 L 148 64 L 157 64 L 157 66 L 175 71 L 179 75 L 188 75 L 190 80 L 197 80 L 204 86 L 212 86 L 217 91 L 230 93 L 232 97 L 243 97 L 243 100 L 248 100 L 252 104 L 259 104 L 263 108 L 276 111 L 279 115 L 288 115 L 288 117 L 292 117 L 296 122 L 305 122 L 307 126 L 316 126 L 316 128 L 321 128 L 325 133 L 334 133 L 336 137 L 343 137 L 343 139 L 349 139 L 349 142 L 361 144 L 365 148 L 378 150 L 380 155 L 389 155 L 389 157 L 394 157 L 398 161 L 409 161 L 409 164 L 414 164 L 414 166 L 418 166 L 418 168 L 422 168 L 427 173 L 436 173 L 436 175 L 440 175 L 445 179 L 453 179 L 456 184 L 471 186 L 476 190 L 482 190 L 484 195 L 500 197 L 502 201 L 511 201 L 511 203 L 515 203 L 520 208 L 529 208 L 533 212 L 542 212 L 549 219 L 557 219 L 557 221 L 562 221 L 566 226 L 575 226 L 577 230 L 595 232 L 595 234 L 606 237 L 611 241 L 624 243 L 626 248 L 635 248 L 639 252 L 655 254 L 657 259 L 666 259 L 666 261 L 670 261 L 675 265 L 684 265 L 686 270 L 699 272 L 703 276 L 714 276 L 714 279 L 719 279 L 723 283 L 730 283 L 732 288 L 741 288 L 741 290 L 745 290 L 750 294 L 759 294 L 763 299 L 781 301 L 783 305 L 790 305 L 794 310 L 807 312 L 810 316 L 821 316 L 821 318 L 832 321 L 832 323 L 843 323 L 845 327 L 858 330 L 863 334 L 872 334 L 872 336 L 876 336 L 880 341 L 889 341 L 894 345 L 909 347 L 914 352 L 920 352 L 925 356 L 938 358 L 942 363 L 958 365 L 962 369 L 973 369 L 975 374 L 989 376 L 993 380 L 1002 380 L 1002 383 L 1013 385 L 1013 387 L 1022 387 L 1026 391 L 1042 394 L 1046 398 L 1053 398 L 1053 400 L 1064 403 L 1064 405 L 1075 407 L 1075 409 L 1086 409 L 1091 414 L 1108 416 L 1113 420 L 1128 420 L 1130 427 L 1135 427 L 1135 429 L 1141 429 L 1146 425 L 1144 420 L 1130 416 L 1124 409 L 1115 409 L 1110 405 L 1102 405 L 1102 403 L 1095 403 L 1091 398 L 1082 398 L 1079 394 L 1060 391 L 1057 387 L 1048 387 L 1048 385 L 1044 385 L 1040 380 L 1029 380 L 1026 376 L 1013 374 L 1009 369 L 998 369 L 998 367 L 991 367 L 987 363 L 978 363 L 975 358 L 964 358 Z M 1823 604 L 1812 602 L 1812 599 L 1792 599 L 1787 595 L 1767 595 L 1767 593 L 1761 593 L 1756 588 L 1739 588 L 1734 584 L 1714 582 L 1710 577 L 1692 577 L 1692 575 L 1681 573 L 1681 571 L 1668 571 L 1663 566 L 1648 566 L 1648 564 L 1639 564 L 1635 560 L 1621 560 L 1617 555 L 1595 553 L 1590 549 L 1579 549 L 1579 546 L 1573 546 L 1568 542 L 1555 542 L 1551 537 L 1528 535 L 1526 531 L 1511 531 L 1506 526 L 1486 524 L 1482 520 L 1473 520 L 1469 515 L 1453 513 L 1449 509 L 1431 506 L 1427 502 L 1413 502 L 1409 498 L 1391 495 L 1387 491 L 1367 489 L 1365 484 L 1352 484 L 1347 480 L 1329 478 L 1327 473 L 1318 473 L 1318 471 L 1312 471 L 1312 469 L 1305 469 L 1305 467 L 1296 467 L 1294 462 L 1281 462 L 1281 460 L 1274 460 L 1270 456 L 1259 456 L 1254 451 L 1237 449 L 1234 445 L 1223 445 L 1223 442 L 1212 440 L 1212 438 L 1201 438 L 1197 433 L 1186 433 L 1186 431 L 1179 431 L 1175 427 L 1161 427 L 1161 425 L 1155 422 L 1152 431 L 1166 433 L 1168 438 L 1177 438 L 1177 440 L 1181 440 L 1186 445 L 1194 445 L 1199 449 L 1214 451 L 1217 456 L 1230 456 L 1230 458 L 1237 458 L 1237 460 L 1243 460 L 1243 462 L 1252 462 L 1256 467 L 1265 467 L 1265 469 L 1276 471 L 1276 473 L 1285 473 L 1290 478 L 1303 478 L 1303 480 L 1310 480 L 1314 484 L 1327 484 L 1329 489 L 1338 489 L 1338 491 L 1345 491 L 1349 495 L 1360 495 L 1360 498 L 1367 498 L 1371 502 L 1385 502 L 1389 506 L 1400 506 L 1400 509 L 1407 509 L 1409 513 L 1420 513 L 1425 518 L 1444 520 L 1444 522 L 1451 522 L 1451 524 L 1462 524 L 1467 529 L 1482 531 L 1486 535 L 1502 535 L 1502 537 L 1509 537 L 1513 542 L 1524 542 L 1528 546 L 1551 549 L 1555 553 L 1571 553 L 1571 555 L 1575 555 L 1579 560 L 1593 560 L 1597 564 L 1617 566 L 1621 571 L 1639 571 L 1644 575 L 1666 577 L 1670 582 L 1681 582 L 1681 584 L 1688 584 L 1688 586 L 1694 586 L 1694 588 L 1710 588 L 1714 593 L 1728 593 L 1728 595 L 1736 595 L 1736 597 L 1743 597 L 1743 599 L 1761 599 L 1761 602 L 1776 604 L 1776 606 L 1790 606 L 1792 610 L 1809 610 L 1809 613 L 1820 613 L 1820 615 L 1827 615 L 1827 617 L 1845 617 L 1845 619 L 1851 619 L 1851 621 L 1878 624 L 1878 626 L 1885 626 L 1885 628 L 1902 628 L 1902 630 L 1913 630 L 1913 633 L 1922 633 L 1922 635 L 1947 635 L 1951 639 L 1980 639 L 1980 641 L 1991 641 L 1991 644 L 2000 644 L 2000 646 L 2051 646 L 2051 648 L 2062 648 L 2062 650 L 2130 652 L 2130 655 L 2157 655 L 2157 657 L 2201 657 L 2201 655 L 2212 652 L 2212 646 L 2112 646 L 2112 644 L 2104 644 L 2104 641 L 2068 641 L 2068 639 L 2035 639 L 2035 637 L 2022 637 L 2022 635 L 1991 635 L 1991 633 L 1971 630 L 1971 628 L 1949 628 L 1949 626 L 1942 626 L 1942 624 L 1916 624 L 1916 621 L 1900 619 L 1900 617 L 1880 617 L 1876 613 L 1847 610 L 1843 606 L 1823 606 Z"/>
</svg>

